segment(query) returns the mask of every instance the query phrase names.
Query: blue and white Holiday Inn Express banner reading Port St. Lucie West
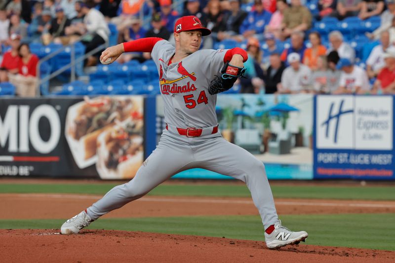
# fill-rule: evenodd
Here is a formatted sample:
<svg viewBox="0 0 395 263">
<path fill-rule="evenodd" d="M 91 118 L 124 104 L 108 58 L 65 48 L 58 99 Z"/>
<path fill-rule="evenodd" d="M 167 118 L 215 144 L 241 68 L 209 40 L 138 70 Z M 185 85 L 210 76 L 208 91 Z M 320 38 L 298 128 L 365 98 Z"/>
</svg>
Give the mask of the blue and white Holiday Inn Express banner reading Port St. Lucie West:
<svg viewBox="0 0 395 263">
<path fill-rule="evenodd" d="M 394 97 L 316 96 L 314 178 L 394 180 Z"/>
</svg>

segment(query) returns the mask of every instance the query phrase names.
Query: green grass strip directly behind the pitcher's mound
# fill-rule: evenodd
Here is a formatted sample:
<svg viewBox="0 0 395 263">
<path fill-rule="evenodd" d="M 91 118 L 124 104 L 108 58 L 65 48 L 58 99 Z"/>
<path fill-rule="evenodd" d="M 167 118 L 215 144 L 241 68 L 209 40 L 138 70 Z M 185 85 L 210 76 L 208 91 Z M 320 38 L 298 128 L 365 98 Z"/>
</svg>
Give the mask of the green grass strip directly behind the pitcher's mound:
<svg viewBox="0 0 395 263">
<path fill-rule="evenodd" d="M 287 215 L 282 224 L 306 230 L 306 244 L 395 251 L 395 214 Z M 0 220 L 0 228 L 59 228 L 64 220 Z M 90 229 L 118 229 L 264 240 L 258 216 L 100 219 Z"/>
</svg>

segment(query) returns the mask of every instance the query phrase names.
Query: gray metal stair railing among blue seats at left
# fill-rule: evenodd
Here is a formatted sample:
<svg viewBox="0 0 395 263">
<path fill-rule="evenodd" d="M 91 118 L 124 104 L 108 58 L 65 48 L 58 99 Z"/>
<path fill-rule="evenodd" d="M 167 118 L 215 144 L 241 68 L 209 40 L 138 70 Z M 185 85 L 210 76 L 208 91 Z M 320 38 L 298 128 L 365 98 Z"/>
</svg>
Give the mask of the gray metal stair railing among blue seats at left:
<svg viewBox="0 0 395 263">
<path fill-rule="evenodd" d="M 54 52 L 51 52 L 50 54 L 48 54 L 47 56 L 43 57 L 42 59 L 40 59 L 39 63 L 37 64 L 37 78 L 38 78 L 38 86 L 36 89 L 36 96 L 40 96 L 40 87 L 43 83 L 45 83 L 46 81 L 49 81 L 50 79 L 56 77 L 57 75 L 62 74 L 63 72 L 67 71 L 68 69 L 71 70 L 71 76 L 70 76 L 70 80 L 71 81 L 75 81 L 76 80 L 76 66 L 79 62 L 84 61 L 87 57 L 95 54 L 96 52 L 107 48 L 109 46 L 109 40 L 107 40 L 105 43 L 97 46 L 95 49 L 89 51 L 88 53 L 85 53 L 83 56 L 80 56 L 78 58 L 76 58 L 76 43 L 79 42 L 81 39 L 89 36 L 89 35 L 93 35 L 95 33 L 86 33 L 85 35 L 79 37 L 76 41 L 74 41 L 73 43 L 69 44 L 69 45 L 65 45 L 59 49 L 56 49 Z M 51 58 L 55 57 L 56 55 L 62 53 L 63 51 L 67 50 L 68 48 L 70 48 L 70 63 L 67 65 L 64 65 L 63 67 L 61 67 L 60 69 L 52 72 L 51 74 L 40 78 L 40 67 L 41 65 L 50 60 Z M 48 90 L 49 92 L 49 90 Z"/>
</svg>

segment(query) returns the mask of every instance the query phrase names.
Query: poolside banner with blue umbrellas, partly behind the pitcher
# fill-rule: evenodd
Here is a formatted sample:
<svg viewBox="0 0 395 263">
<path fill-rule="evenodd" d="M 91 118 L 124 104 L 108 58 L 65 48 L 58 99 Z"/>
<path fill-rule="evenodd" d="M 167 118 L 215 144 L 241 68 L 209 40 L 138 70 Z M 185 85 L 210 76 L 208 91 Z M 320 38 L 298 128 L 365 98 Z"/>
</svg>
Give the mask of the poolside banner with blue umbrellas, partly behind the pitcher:
<svg viewBox="0 0 395 263">
<path fill-rule="evenodd" d="M 222 137 L 261 160 L 269 179 L 313 178 L 313 95 L 220 94 L 216 113 Z M 158 96 L 157 141 L 165 126 Z M 203 169 L 173 178 L 230 179 Z"/>
</svg>

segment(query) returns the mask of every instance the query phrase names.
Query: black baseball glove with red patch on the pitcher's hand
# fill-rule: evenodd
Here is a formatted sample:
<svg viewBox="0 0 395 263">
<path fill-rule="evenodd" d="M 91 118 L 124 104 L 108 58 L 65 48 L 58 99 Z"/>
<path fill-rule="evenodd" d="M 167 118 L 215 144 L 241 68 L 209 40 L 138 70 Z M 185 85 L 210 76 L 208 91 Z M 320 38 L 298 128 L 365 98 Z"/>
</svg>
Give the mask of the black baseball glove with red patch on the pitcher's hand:
<svg viewBox="0 0 395 263">
<path fill-rule="evenodd" d="M 244 72 L 245 68 L 232 66 L 229 62 L 225 63 L 220 71 L 221 75 L 215 75 L 208 85 L 208 93 L 214 95 L 230 89 L 235 84 L 237 77 L 244 77 Z"/>
</svg>

